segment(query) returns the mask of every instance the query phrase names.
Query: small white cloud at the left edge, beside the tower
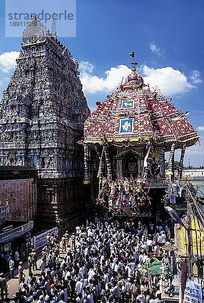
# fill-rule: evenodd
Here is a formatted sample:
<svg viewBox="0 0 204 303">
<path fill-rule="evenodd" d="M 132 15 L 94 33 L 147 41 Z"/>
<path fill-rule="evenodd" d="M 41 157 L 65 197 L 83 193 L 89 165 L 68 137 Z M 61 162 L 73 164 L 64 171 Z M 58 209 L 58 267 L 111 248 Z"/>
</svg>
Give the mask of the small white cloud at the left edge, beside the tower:
<svg viewBox="0 0 204 303">
<path fill-rule="evenodd" d="M 6 52 L 0 55 L 0 70 L 9 73 L 16 67 L 16 58 L 19 57 L 19 52 Z"/>
</svg>

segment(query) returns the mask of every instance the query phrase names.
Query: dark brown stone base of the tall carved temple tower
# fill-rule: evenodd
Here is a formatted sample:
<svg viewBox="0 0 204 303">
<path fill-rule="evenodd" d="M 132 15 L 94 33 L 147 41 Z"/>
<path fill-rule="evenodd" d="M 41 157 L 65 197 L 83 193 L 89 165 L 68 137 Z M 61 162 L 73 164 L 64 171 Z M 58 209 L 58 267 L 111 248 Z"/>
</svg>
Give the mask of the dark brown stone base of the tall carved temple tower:
<svg viewBox="0 0 204 303">
<path fill-rule="evenodd" d="M 54 226 L 59 233 L 72 230 L 86 216 L 83 178 L 38 179 L 38 226 Z"/>
</svg>

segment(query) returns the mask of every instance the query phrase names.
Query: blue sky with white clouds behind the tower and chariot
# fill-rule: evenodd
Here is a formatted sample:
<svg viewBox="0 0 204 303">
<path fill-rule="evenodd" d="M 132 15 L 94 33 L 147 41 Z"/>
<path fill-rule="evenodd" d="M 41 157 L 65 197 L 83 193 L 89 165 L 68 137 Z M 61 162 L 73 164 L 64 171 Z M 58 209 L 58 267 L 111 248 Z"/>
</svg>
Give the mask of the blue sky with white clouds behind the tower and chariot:
<svg viewBox="0 0 204 303">
<path fill-rule="evenodd" d="M 21 0 L 17 3 L 21 6 Z M 32 1 L 29 4 L 32 7 Z M 59 1 L 55 4 L 56 11 L 64 10 Z M 5 37 L 4 1 L 0 9 L 2 94 L 12 73 L 15 55 L 4 53 L 19 51 L 22 41 L 20 37 Z M 80 63 L 81 81 L 91 110 L 95 102 L 111 93 L 129 72 L 128 53 L 134 49 L 138 70 L 145 81 L 161 87 L 166 97 L 172 96 L 177 108 L 190 111 L 188 117 L 199 129 L 203 141 L 203 15 L 201 0 L 77 0 L 76 37 L 66 37 L 63 27 L 65 42 L 60 39 Z M 57 27 L 60 26 L 59 23 Z M 60 36 L 60 29 L 57 30 Z M 190 159 L 191 165 L 204 165 L 203 156 L 203 146 L 188 148 L 185 164 Z"/>
</svg>

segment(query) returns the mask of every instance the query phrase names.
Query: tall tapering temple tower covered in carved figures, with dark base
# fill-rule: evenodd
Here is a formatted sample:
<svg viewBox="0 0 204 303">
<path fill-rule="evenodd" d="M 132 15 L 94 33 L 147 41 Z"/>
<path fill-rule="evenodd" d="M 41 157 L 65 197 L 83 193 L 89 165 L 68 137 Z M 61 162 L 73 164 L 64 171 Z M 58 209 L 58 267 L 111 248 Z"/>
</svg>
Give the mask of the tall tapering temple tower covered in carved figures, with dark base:
<svg viewBox="0 0 204 303">
<path fill-rule="evenodd" d="M 83 148 L 77 141 L 90 111 L 78 62 L 56 33 L 33 15 L 22 39 L 0 105 L 0 161 L 37 169 L 36 224 L 57 224 L 61 233 L 78 223 L 85 203 Z"/>
</svg>

